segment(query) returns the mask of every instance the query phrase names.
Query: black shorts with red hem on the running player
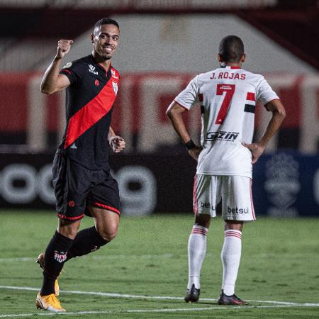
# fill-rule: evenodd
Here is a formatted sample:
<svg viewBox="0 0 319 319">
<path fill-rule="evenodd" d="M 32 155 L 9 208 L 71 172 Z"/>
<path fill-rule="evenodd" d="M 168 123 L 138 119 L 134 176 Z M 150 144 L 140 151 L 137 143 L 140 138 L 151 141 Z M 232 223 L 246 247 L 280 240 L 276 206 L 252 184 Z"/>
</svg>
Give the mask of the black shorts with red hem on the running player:
<svg viewBox="0 0 319 319">
<path fill-rule="evenodd" d="M 52 166 L 52 180 L 57 198 L 57 216 L 79 220 L 91 216 L 87 206 L 107 209 L 120 215 L 118 183 L 109 169 L 90 170 L 70 160 L 57 150 Z"/>
</svg>

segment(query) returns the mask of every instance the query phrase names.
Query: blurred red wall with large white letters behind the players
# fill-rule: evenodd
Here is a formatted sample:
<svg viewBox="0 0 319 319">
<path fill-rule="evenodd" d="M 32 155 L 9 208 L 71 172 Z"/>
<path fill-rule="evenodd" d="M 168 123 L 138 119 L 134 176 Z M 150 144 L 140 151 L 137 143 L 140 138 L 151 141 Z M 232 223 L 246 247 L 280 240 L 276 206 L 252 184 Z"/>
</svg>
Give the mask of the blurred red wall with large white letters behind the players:
<svg viewBox="0 0 319 319">
<path fill-rule="evenodd" d="M 194 74 L 154 72 L 123 74 L 113 109 L 112 126 L 127 141 L 128 151 L 156 152 L 178 143 L 165 111 Z M 42 74 L 0 74 L 0 145 L 23 144 L 41 152 L 57 145 L 65 130 L 65 94 L 40 94 Z M 269 150 L 286 147 L 318 152 L 319 76 L 268 74 L 287 116 Z M 257 107 L 257 136 L 269 112 Z M 194 139 L 200 134 L 198 109 L 186 114 Z"/>
</svg>

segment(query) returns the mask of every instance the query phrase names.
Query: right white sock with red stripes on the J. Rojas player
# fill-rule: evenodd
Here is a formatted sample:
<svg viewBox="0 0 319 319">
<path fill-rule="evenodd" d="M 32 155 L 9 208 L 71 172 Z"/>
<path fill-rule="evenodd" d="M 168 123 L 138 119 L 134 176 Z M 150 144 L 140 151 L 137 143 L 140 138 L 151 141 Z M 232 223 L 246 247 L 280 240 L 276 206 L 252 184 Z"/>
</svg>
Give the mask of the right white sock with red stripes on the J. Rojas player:
<svg viewBox="0 0 319 319">
<path fill-rule="evenodd" d="M 225 240 L 221 252 L 223 262 L 223 286 L 222 289 L 227 296 L 235 293 L 235 282 L 237 279 L 242 253 L 242 232 L 240 230 L 225 230 Z"/>
</svg>

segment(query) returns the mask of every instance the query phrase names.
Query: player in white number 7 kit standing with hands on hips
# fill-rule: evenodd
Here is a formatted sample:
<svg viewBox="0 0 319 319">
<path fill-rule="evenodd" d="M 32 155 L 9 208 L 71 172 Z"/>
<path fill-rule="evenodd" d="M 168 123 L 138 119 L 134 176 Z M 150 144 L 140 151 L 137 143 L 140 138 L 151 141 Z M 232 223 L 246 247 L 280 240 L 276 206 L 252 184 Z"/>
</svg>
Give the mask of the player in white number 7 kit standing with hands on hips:
<svg viewBox="0 0 319 319">
<path fill-rule="evenodd" d="M 189 237 L 189 283 L 185 301 L 196 302 L 200 293 L 201 265 L 206 254 L 206 235 L 216 205 L 222 202 L 225 239 L 221 252 L 223 285 L 220 305 L 246 304 L 235 295 L 240 265 L 244 221 L 255 220 L 252 203 L 252 164 L 286 116 L 279 97 L 260 74 L 242 69 L 244 45 L 235 35 L 220 42 L 220 68 L 198 74 L 167 109 L 167 116 L 196 159 L 193 204 L 195 223 Z M 256 101 L 272 112 L 260 140 L 252 142 Z M 182 113 L 201 107 L 201 146 L 186 130 Z"/>
</svg>

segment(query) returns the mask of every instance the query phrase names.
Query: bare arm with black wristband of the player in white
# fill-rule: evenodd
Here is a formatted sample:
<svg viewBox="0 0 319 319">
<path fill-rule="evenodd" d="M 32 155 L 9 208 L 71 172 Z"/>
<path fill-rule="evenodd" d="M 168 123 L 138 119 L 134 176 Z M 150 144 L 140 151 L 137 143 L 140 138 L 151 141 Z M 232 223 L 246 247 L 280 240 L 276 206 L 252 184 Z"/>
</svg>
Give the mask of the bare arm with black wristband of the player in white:
<svg viewBox="0 0 319 319">
<path fill-rule="evenodd" d="M 172 122 L 174 130 L 181 138 L 181 141 L 186 145 L 186 143 L 189 143 L 192 141 L 191 141 L 191 137 L 189 135 L 189 132 L 186 129 L 186 125 L 184 123 L 184 120 L 181 116 L 181 114 L 184 113 L 185 111 L 187 111 L 186 108 L 184 108 L 183 106 L 180 106 L 178 103 L 176 103 L 174 101 L 169 106 L 169 108 L 167 108 L 166 114 L 167 114 L 169 120 Z M 202 150 L 201 147 L 194 144 L 189 149 L 189 155 L 191 155 L 191 157 L 193 157 L 194 159 L 197 160 L 198 155 L 201 152 L 201 150 Z"/>
</svg>

